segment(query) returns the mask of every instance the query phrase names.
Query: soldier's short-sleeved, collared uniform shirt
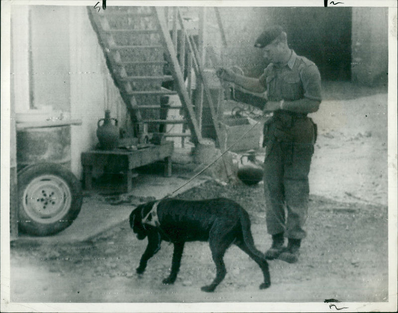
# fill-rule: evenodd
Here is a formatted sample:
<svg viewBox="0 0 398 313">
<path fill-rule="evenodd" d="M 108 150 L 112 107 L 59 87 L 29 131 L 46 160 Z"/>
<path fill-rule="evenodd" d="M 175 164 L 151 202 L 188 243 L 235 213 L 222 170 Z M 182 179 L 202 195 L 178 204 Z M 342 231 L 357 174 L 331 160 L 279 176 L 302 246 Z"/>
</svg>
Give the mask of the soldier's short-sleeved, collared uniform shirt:
<svg viewBox="0 0 398 313">
<path fill-rule="evenodd" d="M 259 78 L 268 100 L 321 100 L 321 78 L 316 65 L 292 50 L 287 64 L 271 63 Z"/>
</svg>

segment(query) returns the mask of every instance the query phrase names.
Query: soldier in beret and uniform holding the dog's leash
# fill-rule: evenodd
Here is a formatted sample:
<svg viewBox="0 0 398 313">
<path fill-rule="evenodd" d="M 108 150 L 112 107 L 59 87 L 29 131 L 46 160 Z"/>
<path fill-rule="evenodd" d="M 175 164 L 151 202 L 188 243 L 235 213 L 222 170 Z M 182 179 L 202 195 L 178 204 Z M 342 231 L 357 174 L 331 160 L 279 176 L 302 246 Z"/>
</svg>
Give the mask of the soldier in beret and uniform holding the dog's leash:
<svg viewBox="0 0 398 313">
<path fill-rule="evenodd" d="M 316 124 L 307 114 L 319 108 L 321 79 L 313 62 L 289 48 L 281 26 L 269 27 L 254 46 L 263 49 L 270 62 L 260 78 L 223 68 L 217 75 L 252 92 L 267 91 L 268 101 L 261 109 L 273 116 L 264 125 L 264 191 L 267 231 L 273 242 L 265 256 L 295 263 L 306 236 L 308 173 L 316 140 Z"/>
</svg>

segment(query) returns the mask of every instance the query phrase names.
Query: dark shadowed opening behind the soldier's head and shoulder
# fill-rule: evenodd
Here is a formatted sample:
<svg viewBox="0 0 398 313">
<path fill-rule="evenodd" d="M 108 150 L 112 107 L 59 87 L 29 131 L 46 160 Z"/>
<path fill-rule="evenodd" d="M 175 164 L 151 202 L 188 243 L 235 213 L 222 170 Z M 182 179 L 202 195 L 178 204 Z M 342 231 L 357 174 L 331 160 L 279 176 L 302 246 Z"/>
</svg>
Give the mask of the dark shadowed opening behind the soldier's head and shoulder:
<svg viewBox="0 0 398 313">
<path fill-rule="evenodd" d="M 298 55 L 313 61 L 324 80 L 351 79 L 350 7 L 275 8 Z"/>
</svg>

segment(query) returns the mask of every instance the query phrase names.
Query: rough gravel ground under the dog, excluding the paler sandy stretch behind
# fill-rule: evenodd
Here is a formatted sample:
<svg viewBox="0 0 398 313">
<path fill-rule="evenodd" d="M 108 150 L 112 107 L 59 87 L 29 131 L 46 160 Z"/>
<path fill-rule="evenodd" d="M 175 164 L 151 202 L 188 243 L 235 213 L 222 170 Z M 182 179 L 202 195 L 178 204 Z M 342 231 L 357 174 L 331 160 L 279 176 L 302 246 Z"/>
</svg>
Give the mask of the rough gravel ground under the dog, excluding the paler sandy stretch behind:
<svg viewBox="0 0 398 313">
<path fill-rule="evenodd" d="M 228 197 L 247 209 L 257 247 L 266 235 L 262 184 L 223 186 L 208 181 L 179 196 Z M 207 243 L 186 245 L 179 277 L 162 285 L 173 246 L 164 242 L 142 276 L 135 274 L 146 240 L 123 222 L 90 241 L 63 246 L 15 242 L 11 249 L 11 295 L 15 302 L 383 302 L 388 300 L 387 208 L 311 196 L 308 236 L 297 264 L 270 261 L 272 286 L 258 290 L 261 272 L 233 246 L 225 255 L 227 276 L 214 294 L 199 287 L 214 277 Z"/>
</svg>

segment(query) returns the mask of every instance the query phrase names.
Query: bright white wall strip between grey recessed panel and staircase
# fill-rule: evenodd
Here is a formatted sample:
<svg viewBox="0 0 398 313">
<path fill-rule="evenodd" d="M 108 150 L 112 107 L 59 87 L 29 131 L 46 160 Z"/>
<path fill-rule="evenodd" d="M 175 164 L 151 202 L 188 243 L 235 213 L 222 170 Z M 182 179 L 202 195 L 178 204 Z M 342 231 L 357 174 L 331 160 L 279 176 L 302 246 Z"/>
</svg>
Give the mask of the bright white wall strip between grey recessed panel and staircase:
<svg viewBox="0 0 398 313">
<path fill-rule="evenodd" d="M 72 171 L 82 177 L 80 154 L 98 143 L 97 122 L 109 109 L 119 125 L 126 124 L 126 106 L 106 67 L 105 58 L 90 23 L 85 6 L 71 6 L 69 11 L 70 102 L 71 118 L 82 119 L 72 126 Z M 59 25 L 61 27 L 61 25 Z"/>
</svg>

